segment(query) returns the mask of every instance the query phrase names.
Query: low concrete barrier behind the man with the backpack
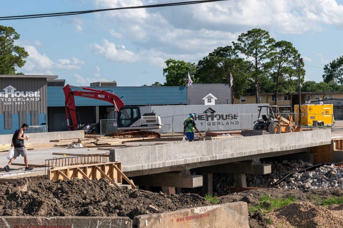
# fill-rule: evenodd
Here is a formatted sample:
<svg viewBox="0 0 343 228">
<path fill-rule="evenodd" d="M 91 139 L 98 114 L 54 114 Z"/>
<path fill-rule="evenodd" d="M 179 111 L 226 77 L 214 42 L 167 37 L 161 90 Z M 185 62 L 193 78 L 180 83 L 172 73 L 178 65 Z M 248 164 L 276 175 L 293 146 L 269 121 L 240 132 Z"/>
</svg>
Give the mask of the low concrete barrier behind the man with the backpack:
<svg viewBox="0 0 343 228">
<path fill-rule="evenodd" d="M 24 134 L 25 136 L 26 134 Z M 13 135 L 0 135 L 0 144 L 11 143 Z M 57 131 L 46 133 L 32 133 L 28 134 L 28 143 L 48 143 L 50 140 L 55 139 L 72 139 L 72 138 L 84 138 L 84 131 Z M 26 142 L 26 141 L 25 141 Z"/>
</svg>

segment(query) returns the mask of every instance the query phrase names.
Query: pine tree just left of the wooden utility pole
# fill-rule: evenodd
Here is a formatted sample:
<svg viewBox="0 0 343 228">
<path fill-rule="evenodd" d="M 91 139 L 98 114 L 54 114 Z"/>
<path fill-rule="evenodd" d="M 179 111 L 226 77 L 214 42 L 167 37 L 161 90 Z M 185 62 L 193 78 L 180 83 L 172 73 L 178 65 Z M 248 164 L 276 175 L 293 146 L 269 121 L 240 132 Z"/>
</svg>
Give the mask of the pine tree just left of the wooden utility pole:
<svg viewBox="0 0 343 228">
<path fill-rule="evenodd" d="M 298 77 L 297 61 L 298 51 L 293 47 L 293 44 L 288 41 L 277 41 L 273 45 L 271 53 L 271 77 L 275 81 L 275 105 L 277 105 L 277 95 L 279 93 L 279 85 L 284 86 L 284 83 L 290 86 L 294 84 L 293 77 Z M 305 69 L 304 63 L 300 65 L 300 76 L 304 80 Z M 287 78 L 287 79 L 286 79 Z M 284 79 L 284 80 L 280 80 Z M 281 83 L 280 83 L 281 82 Z M 291 88 L 292 89 L 292 86 Z"/>
</svg>

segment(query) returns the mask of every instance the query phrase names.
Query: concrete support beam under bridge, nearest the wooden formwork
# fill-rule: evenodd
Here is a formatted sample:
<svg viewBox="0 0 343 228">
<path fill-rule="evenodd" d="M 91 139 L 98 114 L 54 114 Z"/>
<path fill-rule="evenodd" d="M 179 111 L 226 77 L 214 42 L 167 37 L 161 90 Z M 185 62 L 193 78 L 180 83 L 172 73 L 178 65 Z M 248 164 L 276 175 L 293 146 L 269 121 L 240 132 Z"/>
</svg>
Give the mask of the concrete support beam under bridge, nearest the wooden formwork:
<svg viewBox="0 0 343 228">
<path fill-rule="evenodd" d="M 133 181 L 136 185 L 162 187 L 196 188 L 202 186 L 201 175 L 182 175 L 178 172 L 144 175 L 133 178 Z"/>
</svg>

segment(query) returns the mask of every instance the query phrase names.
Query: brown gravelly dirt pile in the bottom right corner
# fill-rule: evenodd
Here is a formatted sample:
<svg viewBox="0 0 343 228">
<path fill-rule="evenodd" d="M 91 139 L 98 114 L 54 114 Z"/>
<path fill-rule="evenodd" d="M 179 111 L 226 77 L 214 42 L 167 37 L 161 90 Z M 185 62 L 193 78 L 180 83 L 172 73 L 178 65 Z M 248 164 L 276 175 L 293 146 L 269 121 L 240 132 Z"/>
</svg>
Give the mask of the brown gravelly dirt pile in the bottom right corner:
<svg viewBox="0 0 343 228">
<path fill-rule="evenodd" d="M 308 202 L 292 203 L 266 215 L 275 227 L 332 228 L 343 223 L 342 210 L 330 210 Z"/>
</svg>

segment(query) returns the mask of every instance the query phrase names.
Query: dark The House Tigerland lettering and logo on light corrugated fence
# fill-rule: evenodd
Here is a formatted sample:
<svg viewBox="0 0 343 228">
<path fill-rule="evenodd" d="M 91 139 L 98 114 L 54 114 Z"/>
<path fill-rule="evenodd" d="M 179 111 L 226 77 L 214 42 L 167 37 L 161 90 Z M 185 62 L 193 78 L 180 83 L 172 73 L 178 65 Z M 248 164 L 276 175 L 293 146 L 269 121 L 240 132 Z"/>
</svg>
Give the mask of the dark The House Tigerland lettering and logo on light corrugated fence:
<svg viewBox="0 0 343 228">
<path fill-rule="evenodd" d="M 195 114 L 194 120 L 199 120 L 201 126 L 228 126 L 239 124 L 237 114 L 215 114 L 212 108 L 206 109 L 203 114 Z"/>
</svg>

